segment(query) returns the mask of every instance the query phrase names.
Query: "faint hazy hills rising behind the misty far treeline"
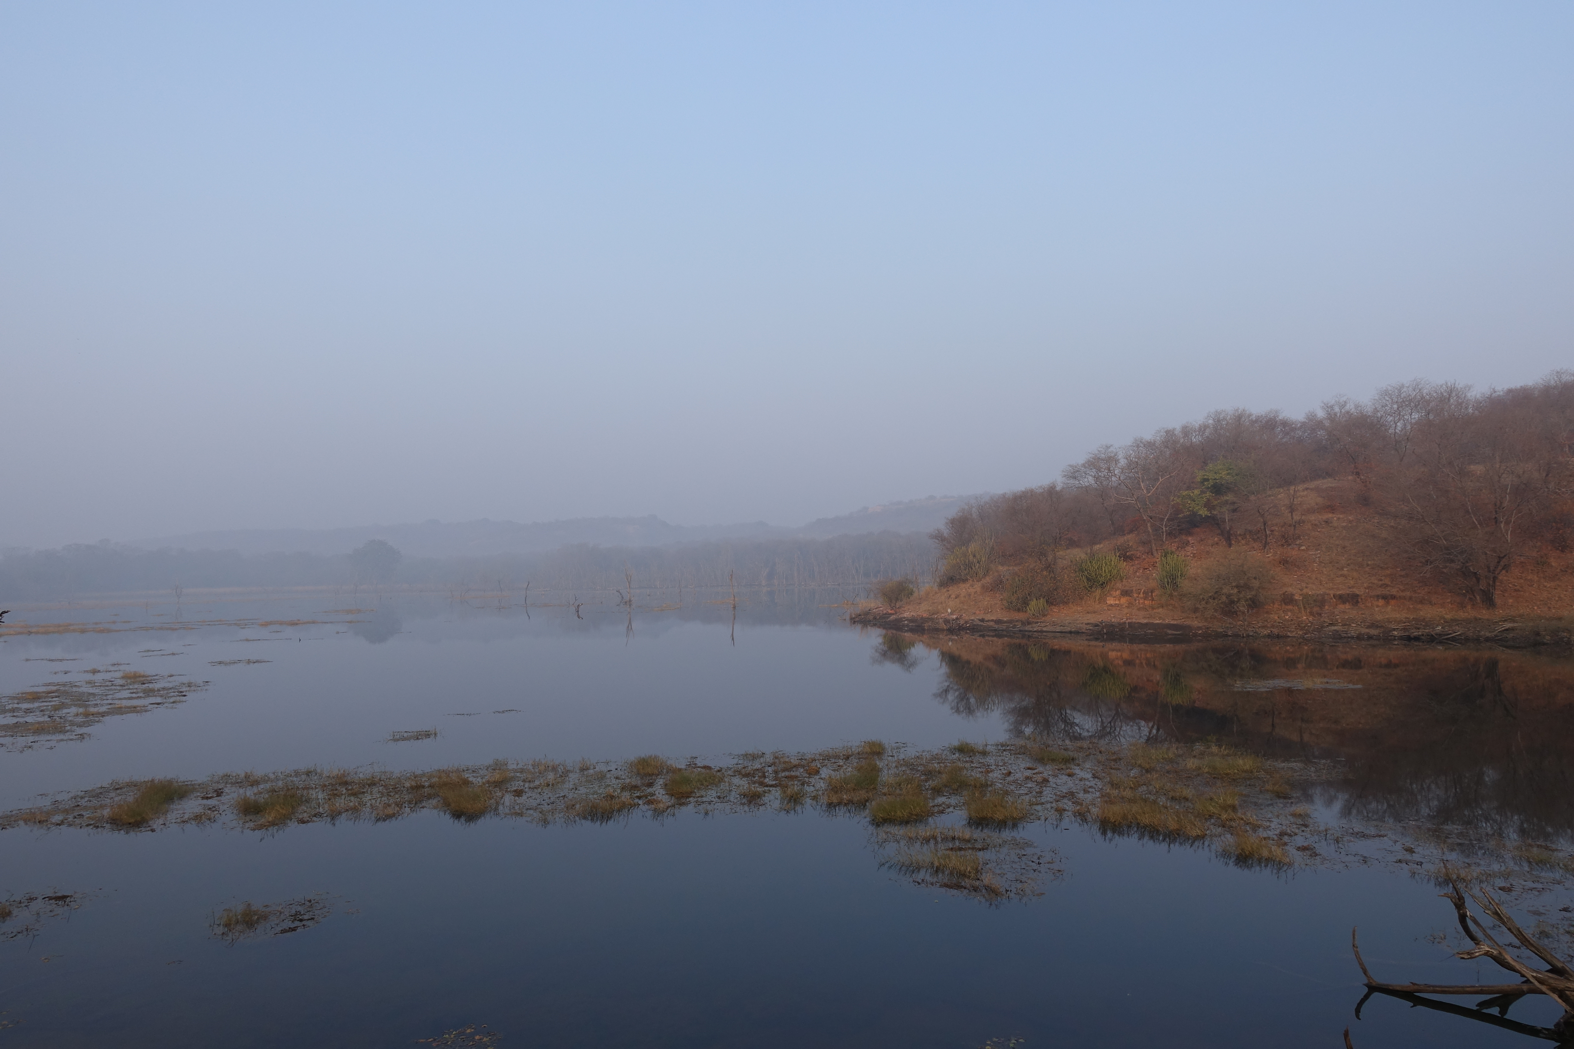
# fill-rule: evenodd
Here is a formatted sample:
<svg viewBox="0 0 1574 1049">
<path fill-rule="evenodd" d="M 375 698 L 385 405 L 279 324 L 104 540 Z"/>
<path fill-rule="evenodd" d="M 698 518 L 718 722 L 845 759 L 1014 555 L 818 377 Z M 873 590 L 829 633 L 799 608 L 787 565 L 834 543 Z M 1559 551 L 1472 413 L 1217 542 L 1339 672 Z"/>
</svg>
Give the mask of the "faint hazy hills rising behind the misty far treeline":
<svg viewBox="0 0 1574 1049">
<path fill-rule="evenodd" d="M 829 538 L 870 532 L 929 533 L 971 497 L 930 495 L 881 506 L 864 506 L 839 517 L 822 517 L 801 528 L 752 521 L 732 525 L 675 525 L 655 514 L 645 517 L 571 517 L 519 524 L 516 521 L 464 521 L 351 528 L 242 528 L 132 539 L 143 550 L 236 550 L 257 554 L 345 554 L 367 539 L 386 539 L 409 557 L 477 557 L 491 554 L 540 554 L 562 546 L 664 547 L 708 539 Z"/>
</svg>

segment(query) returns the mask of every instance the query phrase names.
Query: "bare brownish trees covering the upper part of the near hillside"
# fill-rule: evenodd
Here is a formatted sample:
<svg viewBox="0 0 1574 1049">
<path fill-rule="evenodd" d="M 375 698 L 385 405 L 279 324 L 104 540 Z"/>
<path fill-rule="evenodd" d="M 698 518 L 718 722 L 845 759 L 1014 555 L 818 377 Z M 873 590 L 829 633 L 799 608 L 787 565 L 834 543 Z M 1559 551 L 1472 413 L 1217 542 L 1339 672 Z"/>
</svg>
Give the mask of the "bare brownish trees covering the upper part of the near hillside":
<svg viewBox="0 0 1574 1049">
<path fill-rule="evenodd" d="M 995 563 L 1058 571 L 1066 550 L 1133 536 L 1151 557 L 1180 530 L 1226 546 L 1294 544 L 1306 484 L 1344 477 L 1395 555 L 1494 607 L 1527 550 L 1574 543 L 1574 373 L 1476 393 L 1401 382 L 1336 398 L 1303 418 L 1218 410 L 1124 447 L 1103 445 L 1061 481 L 982 499 L 933 533 L 941 582 Z"/>
</svg>

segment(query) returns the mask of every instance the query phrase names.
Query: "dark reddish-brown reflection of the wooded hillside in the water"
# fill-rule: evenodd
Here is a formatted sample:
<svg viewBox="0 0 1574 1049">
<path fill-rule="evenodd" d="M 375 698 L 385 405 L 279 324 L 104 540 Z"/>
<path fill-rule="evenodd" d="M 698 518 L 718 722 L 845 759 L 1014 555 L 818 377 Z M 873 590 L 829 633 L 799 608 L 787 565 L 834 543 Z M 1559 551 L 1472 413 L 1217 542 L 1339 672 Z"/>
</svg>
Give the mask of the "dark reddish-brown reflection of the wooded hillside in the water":
<svg viewBox="0 0 1574 1049">
<path fill-rule="evenodd" d="M 1221 742 L 1332 758 L 1347 816 L 1574 837 L 1574 657 L 1328 645 L 1026 645 L 886 634 L 877 662 L 940 659 L 935 698 L 1017 736 Z"/>
</svg>

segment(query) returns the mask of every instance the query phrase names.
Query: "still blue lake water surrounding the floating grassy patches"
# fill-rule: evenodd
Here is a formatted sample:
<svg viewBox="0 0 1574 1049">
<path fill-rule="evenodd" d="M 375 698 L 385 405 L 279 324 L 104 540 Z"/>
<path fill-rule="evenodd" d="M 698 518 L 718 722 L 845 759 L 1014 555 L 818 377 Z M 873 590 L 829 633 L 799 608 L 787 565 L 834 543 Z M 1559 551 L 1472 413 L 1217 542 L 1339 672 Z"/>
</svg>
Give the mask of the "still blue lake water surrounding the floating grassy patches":
<svg viewBox="0 0 1574 1049">
<path fill-rule="evenodd" d="M 693 593 L 633 613 L 417 596 L 13 613 L 107 632 L 6 637 L 0 694 L 90 668 L 208 684 L 85 739 L 6 739 L 0 807 L 247 769 L 719 766 L 1034 733 L 1310 758 L 1330 769 L 1303 799 L 1325 823 L 1569 846 L 1566 656 L 919 642 L 850 628 L 842 598 L 754 593 L 735 615 Z M 438 734 L 389 742 L 420 730 Z M 0 940 L 0 1046 L 412 1046 L 471 1024 L 501 1046 L 1339 1046 L 1346 1027 L 1358 1047 L 1528 1044 L 1380 997 L 1354 1019 L 1354 925 L 1387 978 L 1494 978 L 1428 939 L 1453 915 L 1415 865 L 1242 868 L 1070 819 L 1015 834 L 1053 871 L 990 906 L 881 867 L 866 819 L 815 807 L 13 827 L 0 896 L 80 906 Z M 1569 903 L 1543 881 L 1535 900 Z M 224 907 L 304 898 L 321 920 L 297 933 L 211 933 Z M 1557 1010 L 1528 999 L 1511 1016 Z"/>
</svg>

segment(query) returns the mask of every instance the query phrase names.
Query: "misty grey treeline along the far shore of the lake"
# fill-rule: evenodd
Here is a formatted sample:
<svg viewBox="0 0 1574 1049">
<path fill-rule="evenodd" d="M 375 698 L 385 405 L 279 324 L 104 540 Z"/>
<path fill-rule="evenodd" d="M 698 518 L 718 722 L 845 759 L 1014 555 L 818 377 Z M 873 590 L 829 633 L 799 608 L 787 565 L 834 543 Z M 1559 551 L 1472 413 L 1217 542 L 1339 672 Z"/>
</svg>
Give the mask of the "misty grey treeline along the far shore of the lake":
<svg viewBox="0 0 1574 1049">
<path fill-rule="evenodd" d="M 0 596 L 47 601 L 77 594 L 203 587 L 378 585 L 414 588 L 611 590 L 864 585 L 899 576 L 927 577 L 935 546 L 924 535 L 875 532 L 828 539 L 718 539 L 669 547 L 563 546 L 545 554 L 398 557 L 368 571 L 353 552 L 257 554 L 142 550 L 112 543 L 0 557 Z"/>
</svg>

